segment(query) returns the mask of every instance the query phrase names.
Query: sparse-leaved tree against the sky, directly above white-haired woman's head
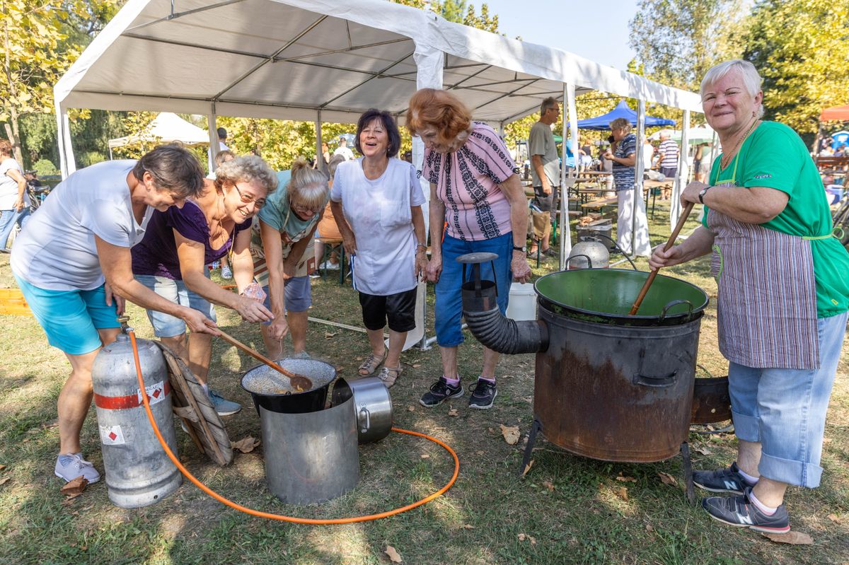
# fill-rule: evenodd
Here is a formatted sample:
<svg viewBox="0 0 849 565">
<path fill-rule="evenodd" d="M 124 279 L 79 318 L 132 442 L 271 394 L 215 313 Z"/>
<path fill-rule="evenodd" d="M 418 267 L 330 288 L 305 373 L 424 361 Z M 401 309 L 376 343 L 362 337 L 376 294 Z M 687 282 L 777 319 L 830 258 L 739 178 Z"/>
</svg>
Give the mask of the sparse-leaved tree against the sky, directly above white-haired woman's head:
<svg viewBox="0 0 849 565">
<path fill-rule="evenodd" d="M 714 64 L 742 50 L 742 0 L 640 0 L 629 44 L 645 74 L 694 89 Z"/>
</svg>

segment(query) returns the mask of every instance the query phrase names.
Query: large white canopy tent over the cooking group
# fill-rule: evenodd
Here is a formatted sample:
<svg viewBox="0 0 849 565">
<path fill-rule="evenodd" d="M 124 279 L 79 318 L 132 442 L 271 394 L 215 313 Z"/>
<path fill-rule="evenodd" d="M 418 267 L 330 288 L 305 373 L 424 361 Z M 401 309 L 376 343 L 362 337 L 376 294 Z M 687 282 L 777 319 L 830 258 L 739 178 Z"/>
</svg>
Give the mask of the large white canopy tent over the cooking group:
<svg viewBox="0 0 849 565">
<path fill-rule="evenodd" d="M 497 127 L 561 98 L 564 138 L 567 124 L 577 131 L 576 94 L 590 90 L 638 98 L 641 115 L 646 101 L 683 109 L 685 122 L 701 111 L 692 92 L 385 0 L 129 0 L 54 87 L 62 173 L 75 170 L 69 108 L 205 114 L 211 141 L 216 115 L 315 120 L 320 148 L 323 121 L 372 107 L 402 120 L 421 87 L 453 90 Z M 560 225 L 562 266 L 571 243 Z"/>
</svg>

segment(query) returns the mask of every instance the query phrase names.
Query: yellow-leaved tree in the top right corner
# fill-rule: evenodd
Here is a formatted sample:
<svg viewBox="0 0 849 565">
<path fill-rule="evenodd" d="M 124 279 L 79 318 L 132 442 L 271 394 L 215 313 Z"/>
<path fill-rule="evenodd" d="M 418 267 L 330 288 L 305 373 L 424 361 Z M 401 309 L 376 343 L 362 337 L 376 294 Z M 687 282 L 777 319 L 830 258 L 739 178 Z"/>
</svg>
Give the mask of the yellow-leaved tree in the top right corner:
<svg viewBox="0 0 849 565">
<path fill-rule="evenodd" d="M 800 134 L 817 131 L 824 108 L 846 103 L 849 4 L 762 0 L 745 34 L 745 59 L 763 78 L 764 108 Z"/>
</svg>

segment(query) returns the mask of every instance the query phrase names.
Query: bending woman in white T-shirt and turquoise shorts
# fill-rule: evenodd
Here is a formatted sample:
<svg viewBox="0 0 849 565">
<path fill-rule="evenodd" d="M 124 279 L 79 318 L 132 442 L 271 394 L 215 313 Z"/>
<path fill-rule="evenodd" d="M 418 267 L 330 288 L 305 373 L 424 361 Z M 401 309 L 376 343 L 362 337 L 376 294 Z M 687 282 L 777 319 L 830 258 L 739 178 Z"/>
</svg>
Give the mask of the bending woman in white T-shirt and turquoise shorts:
<svg viewBox="0 0 849 565">
<path fill-rule="evenodd" d="M 49 344 L 70 361 L 59 393 L 59 456 L 54 473 L 89 483 L 100 473 L 80 449 L 92 402 L 92 366 L 118 334 L 124 299 L 183 318 L 195 332 L 217 334 L 214 322 L 176 305 L 132 276 L 130 248 L 141 241 L 154 210 L 182 206 L 203 189 L 194 155 L 160 146 L 138 161 L 91 165 L 61 182 L 15 240 L 11 266 Z"/>
</svg>

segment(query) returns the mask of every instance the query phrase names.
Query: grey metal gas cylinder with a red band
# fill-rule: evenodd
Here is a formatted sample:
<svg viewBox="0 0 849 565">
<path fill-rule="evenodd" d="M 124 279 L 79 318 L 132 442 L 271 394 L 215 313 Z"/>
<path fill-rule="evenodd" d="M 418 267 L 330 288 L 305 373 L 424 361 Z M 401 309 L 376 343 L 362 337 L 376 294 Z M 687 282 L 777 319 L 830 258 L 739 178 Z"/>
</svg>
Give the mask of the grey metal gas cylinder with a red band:
<svg viewBox="0 0 849 565">
<path fill-rule="evenodd" d="M 177 455 L 165 358 L 150 341 L 137 339 L 136 344 L 150 411 Z M 121 508 L 138 508 L 170 495 L 183 483 L 183 475 L 166 456 L 144 411 L 127 334 L 120 333 L 100 350 L 92 368 L 92 385 L 110 501 Z"/>
</svg>

